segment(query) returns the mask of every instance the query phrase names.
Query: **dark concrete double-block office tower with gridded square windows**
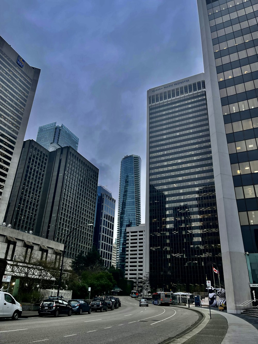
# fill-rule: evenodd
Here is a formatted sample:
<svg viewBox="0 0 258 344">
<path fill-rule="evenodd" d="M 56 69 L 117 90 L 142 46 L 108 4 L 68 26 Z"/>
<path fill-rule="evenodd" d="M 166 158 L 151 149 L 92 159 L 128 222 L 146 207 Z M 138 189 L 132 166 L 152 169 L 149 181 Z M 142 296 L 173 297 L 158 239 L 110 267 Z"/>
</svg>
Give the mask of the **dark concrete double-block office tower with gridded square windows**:
<svg viewBox="0 0 258 344">
<path fill-rule="evenodd" d="M 72 147 L 49 152 L 24 142 L 5 219 L 12 227 L 64 244 L 66 257 L 93 244 L 98 169 Z"/>
</svg>

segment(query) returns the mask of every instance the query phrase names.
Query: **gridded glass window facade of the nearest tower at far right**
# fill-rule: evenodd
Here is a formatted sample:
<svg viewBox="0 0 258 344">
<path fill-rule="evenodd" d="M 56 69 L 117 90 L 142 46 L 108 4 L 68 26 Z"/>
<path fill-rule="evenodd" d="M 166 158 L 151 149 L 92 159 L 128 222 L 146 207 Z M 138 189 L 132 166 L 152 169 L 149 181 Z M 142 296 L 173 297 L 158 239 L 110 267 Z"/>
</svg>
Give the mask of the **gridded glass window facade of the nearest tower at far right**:
<svg viewBox="0 0 258 344">
<path fill-rule="evenodd" d="M 206 4 L 244 248 L 257 253 L 258 0 Z"/>
</svg>

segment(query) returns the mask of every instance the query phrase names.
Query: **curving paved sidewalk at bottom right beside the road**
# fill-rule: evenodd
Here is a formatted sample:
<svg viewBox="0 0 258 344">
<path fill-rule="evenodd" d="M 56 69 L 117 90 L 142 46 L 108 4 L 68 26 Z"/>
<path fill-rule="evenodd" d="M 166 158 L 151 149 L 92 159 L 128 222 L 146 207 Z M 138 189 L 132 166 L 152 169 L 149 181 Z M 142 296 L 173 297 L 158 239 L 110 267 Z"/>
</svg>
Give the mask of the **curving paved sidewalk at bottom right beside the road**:
<svg viewBox="0 0 258 344">
<path fill-rule="evenodd" d="M 186 308 L 186 307 L 182 307 Z M 192 307 L 191 307 L 192 308 Z M 205 315 L 205 319 L 192 331 L 180 338 L 175 338 L 171 343 L 176 344 L 257 344 L 258 330 L 244 319 L 226 312 L 211 310 L 212 319 L 209 317 L 208 308 L 196 308 Z"/>
</svg>

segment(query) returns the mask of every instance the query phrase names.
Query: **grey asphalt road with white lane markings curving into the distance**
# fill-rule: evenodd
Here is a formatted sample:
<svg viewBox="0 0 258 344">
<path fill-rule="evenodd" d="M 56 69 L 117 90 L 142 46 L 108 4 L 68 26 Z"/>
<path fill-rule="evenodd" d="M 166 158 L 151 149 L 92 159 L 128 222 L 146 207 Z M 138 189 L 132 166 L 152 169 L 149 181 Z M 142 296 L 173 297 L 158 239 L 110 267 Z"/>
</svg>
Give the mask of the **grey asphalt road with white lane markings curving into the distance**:
<svg viewBox="0 0 258 344">
<path fill-rule="evenodd" d="M 0 320 L 1 344 L 82 343 L 158 344 L 187 329 L 198 315 L 188 309 L 149 305 L 120 297 L 121 307 L 107 312 L 58 318 Z"/>
</svg>

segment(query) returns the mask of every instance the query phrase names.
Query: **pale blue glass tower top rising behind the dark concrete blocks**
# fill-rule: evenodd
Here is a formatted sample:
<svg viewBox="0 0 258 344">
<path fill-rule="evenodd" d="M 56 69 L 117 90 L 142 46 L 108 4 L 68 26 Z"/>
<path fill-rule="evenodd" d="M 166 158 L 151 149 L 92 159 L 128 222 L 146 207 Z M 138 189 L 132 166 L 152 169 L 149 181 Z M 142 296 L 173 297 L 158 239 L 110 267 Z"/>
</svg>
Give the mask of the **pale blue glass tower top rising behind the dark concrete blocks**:
<svg viewBox="0 0 258 344">
<path fill-rule="evenodd" d="M 49 151 L 66 146 L 71 146 L 77 151 L 79 139 L 63 124 L 60 127 L 54 122 L 39 127 L 36 142 Z"/>
</svg>

